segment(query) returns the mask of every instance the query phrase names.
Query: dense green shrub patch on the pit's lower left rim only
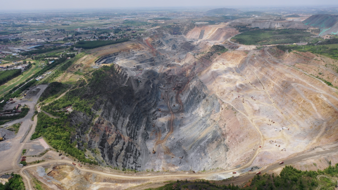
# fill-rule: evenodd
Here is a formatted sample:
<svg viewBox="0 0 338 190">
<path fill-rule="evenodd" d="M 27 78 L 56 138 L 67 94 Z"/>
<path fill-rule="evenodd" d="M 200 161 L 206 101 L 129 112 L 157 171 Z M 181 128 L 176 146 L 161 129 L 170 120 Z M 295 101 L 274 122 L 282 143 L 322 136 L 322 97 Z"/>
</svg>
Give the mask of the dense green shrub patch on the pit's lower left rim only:
<svg viewBox="0 0 338 190">
<path fill-rule="evenodd" d="M 41 112 L 38 114 L 37 127 L 31 140 L 42 136 L 53 148 L 63 150 L 80 162 L 97 164 L 96 161 L 85 158 L 84 152 L 75 147 L 76 141 L 71 143 L 71 135 L 74 131 L 75 129 L 71 128 L 69 121 L 67 121 L 67 116 L 53 119 Z"/>
</svg>

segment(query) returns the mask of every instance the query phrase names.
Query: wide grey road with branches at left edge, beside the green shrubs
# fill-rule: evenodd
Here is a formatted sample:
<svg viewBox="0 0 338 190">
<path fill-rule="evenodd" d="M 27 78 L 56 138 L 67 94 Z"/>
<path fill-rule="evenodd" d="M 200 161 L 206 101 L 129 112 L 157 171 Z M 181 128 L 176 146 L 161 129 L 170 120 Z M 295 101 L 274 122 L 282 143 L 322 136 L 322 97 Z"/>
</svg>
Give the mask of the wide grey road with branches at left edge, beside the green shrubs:
<svg viewBox="0 0 338 190">
<path fill-rule="evenodd" d="M 39 85 L 38 87 L 41 90 L 37 93 L 37 95 L 34 95 L 32 97 L 28 97 L 29 99 L 24 98 L 23 100 L 18 100 L 15 103 L 15 105 L 17 103 L 21 103 L 21 105 L 24 105 L 24 104 L 28 105 L 30 110 L 27 113 L 27 115 L 24 118 L 17 119 L 17 120 L 14 120 L 14 121 L 11 121 L 11 122 L 8 122 L 8 123 L 2 125 L 2 126 L 11 126 L 13 124 L 23 122 L 20 126 L 20 129 L 19 129 L 17 135 L 14 138 L 7 139 L 5 141 L 0 142 L 0 145 L 1 145 L 1 143 L 8 143 L 11 146 L 7 150 L 0 151 L 0 160 L 1 160 L 0 174 L 4 173 L 4 171 L 20 168 L 20 165 L 18 164 L 18 162 L 19 162 L 19 159 L 20 159 L 22 149 L 24 148 L 26 142 L 31 138 L 31 135 L 34 132 L 35 127 L 36 127 L 36 123 L 37 123 L 36 119 L 34 121 L 31 120 L 31 118 L 34 115 L 34 111 L 35 111 L 34 106 L 37 103 L 37 101 L 38 101 L 40 95 L 42 94 L 42 92 L 46 89 L 47 85 Z M 33 91 L 35 88 L 37 88 L 37 87 L 32 88 L 31 91 Z M 7 106 L 14 106 L 14 105 L 7 105 Z M 25 141 L 20 143 L 20 140 L 27 133 L 30 126 L 32 126 L 31 131 L 27 135 Z"/>
</svg>

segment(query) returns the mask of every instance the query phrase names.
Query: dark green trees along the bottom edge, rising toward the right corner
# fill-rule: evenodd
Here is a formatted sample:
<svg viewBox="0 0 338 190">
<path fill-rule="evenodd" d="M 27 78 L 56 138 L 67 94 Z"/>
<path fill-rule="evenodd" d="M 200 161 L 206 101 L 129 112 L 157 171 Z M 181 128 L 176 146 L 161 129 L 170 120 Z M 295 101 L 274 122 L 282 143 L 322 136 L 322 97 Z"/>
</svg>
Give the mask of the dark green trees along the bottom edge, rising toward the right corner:
<svg viewBox="0 0 338 190">
<path fill-rule="evenodd" d="M 280 175 L 255 175 L 243 188 L 216 185 L 209 181 L 178 181 L 153 190 L 334 190 L 337 186 L 338 164 L 318 171 L 301 171 L 286 166 Z M 148 189 L 151 190 L 151 189 Z"/>
</svg>

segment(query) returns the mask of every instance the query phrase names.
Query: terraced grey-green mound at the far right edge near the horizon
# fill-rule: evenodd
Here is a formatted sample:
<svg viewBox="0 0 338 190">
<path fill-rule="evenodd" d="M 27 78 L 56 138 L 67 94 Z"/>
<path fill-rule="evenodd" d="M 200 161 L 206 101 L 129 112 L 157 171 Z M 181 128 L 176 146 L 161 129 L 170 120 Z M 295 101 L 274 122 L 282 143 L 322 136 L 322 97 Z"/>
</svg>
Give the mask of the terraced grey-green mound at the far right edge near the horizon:
<svg viewBox="0 0 338 190">
<path fill-rule="evenodd" d="M 338 34 L 338 15 L 315 14 L 303 21 L 305 25 L 320 29 L 319 36 Z"/>
</svg>

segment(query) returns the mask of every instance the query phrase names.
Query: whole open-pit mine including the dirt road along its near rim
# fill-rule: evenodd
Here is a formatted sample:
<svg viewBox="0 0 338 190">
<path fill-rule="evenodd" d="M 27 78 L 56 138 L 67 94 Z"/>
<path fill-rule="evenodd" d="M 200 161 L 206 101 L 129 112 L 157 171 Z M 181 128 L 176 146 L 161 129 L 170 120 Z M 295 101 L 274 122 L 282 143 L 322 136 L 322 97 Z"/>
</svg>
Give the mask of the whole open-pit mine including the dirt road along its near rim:
<svg viewBox="0 0 338 190">
<path fill-rule="evenodd" d="M 92 78 L 81 92 L 96 98 L 96 116 L 73 111 L 69 119 L 76 126 L 71 142 L 99 166 L 59 158 L 22 172 L 46 189 L 126 189 L 222 180 L 311 152 L 335 153 L 338 74 L 327 65 L 337 60 L 235 44 L 229 39 L 239 32 L 229 24 L 148 31 L 143 39 L 89 50 L 74 64 L 103 68 L 104 79 Z"/>
</svg>

